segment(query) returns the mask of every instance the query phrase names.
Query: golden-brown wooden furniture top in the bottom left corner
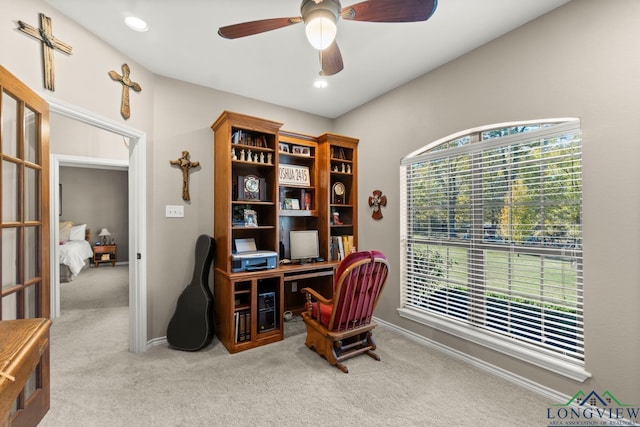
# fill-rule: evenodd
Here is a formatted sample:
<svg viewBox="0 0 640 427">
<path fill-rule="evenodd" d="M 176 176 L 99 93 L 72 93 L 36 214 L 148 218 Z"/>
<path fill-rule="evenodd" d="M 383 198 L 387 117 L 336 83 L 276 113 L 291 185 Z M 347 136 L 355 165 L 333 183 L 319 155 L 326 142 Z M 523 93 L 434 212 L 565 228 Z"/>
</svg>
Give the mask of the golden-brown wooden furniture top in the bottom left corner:
<svg viewBox="0 0 640 427">
<path fill-rule="evenodd" d="M 49 345 L 49 319 L 0 321 L 0 426 Z"/>
</svg>

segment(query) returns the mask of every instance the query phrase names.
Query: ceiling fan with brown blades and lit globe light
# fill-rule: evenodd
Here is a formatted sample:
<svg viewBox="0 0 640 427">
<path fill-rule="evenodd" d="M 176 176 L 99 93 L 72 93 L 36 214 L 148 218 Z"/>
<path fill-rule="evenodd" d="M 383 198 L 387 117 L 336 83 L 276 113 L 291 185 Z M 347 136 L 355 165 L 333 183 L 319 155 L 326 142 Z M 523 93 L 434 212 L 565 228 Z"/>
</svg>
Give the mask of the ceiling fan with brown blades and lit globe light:
<svg viewBox="0 0 640 427">
<path fill-rule="evenodd" d="M 438 0 L 365 0 L 343 8 L 339 0 L 302 0 L 302 16 L 228 25 L 220 27 L 218 34 L 227 39 L 237 39 L 304 22 L 307 39 L 320 51 L 321 74 L 331 76 L 344 68 L 342 54 L 335 41 L 339 18 L 367 22 L 426 21 L 437 5 Z"/>
</svg>

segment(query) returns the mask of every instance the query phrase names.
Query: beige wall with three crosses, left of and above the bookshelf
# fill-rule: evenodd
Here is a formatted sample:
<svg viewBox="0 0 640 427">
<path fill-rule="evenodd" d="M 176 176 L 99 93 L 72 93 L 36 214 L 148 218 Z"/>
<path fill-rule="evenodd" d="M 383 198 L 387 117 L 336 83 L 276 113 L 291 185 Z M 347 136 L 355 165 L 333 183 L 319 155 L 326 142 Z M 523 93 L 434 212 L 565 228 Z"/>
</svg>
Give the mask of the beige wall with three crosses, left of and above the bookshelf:
<svg viewBox="0 0 640 427">
<path fill-rule="evenodd" d="M 109 47 L 41 0 L 0 0 L 0 64 L 25 84 L 43 92 L 39 45 L 15 28 L 17 20 L 52 18 L 56 37 L 73 46 L 73 55 L 55 58 L 56 90 L 64 102 L 124 122 L 120 116 L 122 88 L 109 70 L 129 64 L 131 78 L 142 87 L 130 94 L 131 118 L 126 126 L 147 133 L 147 335 L 166 334 L 176 301 L 193 274 L 193 250 L 200 234 L 213 234 L 213 132 L 211 125 L 231 110 L 285 123 L 284 128 L 309 134 L 330 131 L 332 121 L 226 92 L 156 76 L 135 59 Z M 31 53 L 31 54 L 29 54 Z M 81 82 L 81 84 L 79 83 Z M 71 121 L 72 122 L 72 121 Z M 51 153 L 125 160 L 121 138 L 87 129 L 51 115 Z M 182 176 L 169 164 L 189 151 L 201 167 L 190 173 L 191 201 L 182 200 Z M 184 218 L 165 218 L 165 205 L 184 205 Z"/>
</svg>

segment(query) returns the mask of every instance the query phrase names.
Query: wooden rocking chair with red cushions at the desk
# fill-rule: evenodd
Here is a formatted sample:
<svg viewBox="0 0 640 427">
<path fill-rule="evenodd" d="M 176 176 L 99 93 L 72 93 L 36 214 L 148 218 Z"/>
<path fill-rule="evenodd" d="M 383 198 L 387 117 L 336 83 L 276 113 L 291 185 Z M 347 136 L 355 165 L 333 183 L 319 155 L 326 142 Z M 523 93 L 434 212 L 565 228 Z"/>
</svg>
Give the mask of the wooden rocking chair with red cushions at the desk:
<svg viewBox="0 0 640 427">
<path fill-rule="evenodd" d="M 302 319 L 307 327 L 305 344 L 339 368 L 341 362 L 366 353 L 375 360 L 372 330 L 373 310 L 389 273 L 387 258 L 378 251 L 349 254 L 338 266 L 333 298 L 326 299 L 310 288 L 302 289 L 307 310 Z"/>
</svg>

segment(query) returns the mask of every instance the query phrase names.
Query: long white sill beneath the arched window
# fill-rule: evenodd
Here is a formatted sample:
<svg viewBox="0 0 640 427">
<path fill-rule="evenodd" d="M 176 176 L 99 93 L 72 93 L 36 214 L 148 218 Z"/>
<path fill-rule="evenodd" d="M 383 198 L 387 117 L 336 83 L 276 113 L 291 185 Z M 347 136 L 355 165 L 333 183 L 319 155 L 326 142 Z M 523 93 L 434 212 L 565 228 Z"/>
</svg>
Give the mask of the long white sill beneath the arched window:
<svg viewBox="0 0 640 427">
<path fill-rule="evenodd" d="M 445 319 L 436 315 L 422 313 L 411 308 L 399 308 L 398 313 L 404 319 L 438 329 L 458 338 L 487 347 L 491 350 L 506 354 L 510 357 L 525 361 L 556 374 L 584 382 L 591 374 L 583 366 L 554 357 L 550 353 L 541 351 L 527 343 L 513 343 L 497 334 L 492 334 L 478 328 Z"/>
</svg>

